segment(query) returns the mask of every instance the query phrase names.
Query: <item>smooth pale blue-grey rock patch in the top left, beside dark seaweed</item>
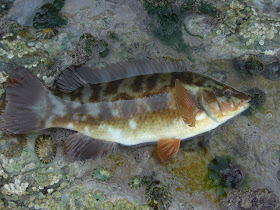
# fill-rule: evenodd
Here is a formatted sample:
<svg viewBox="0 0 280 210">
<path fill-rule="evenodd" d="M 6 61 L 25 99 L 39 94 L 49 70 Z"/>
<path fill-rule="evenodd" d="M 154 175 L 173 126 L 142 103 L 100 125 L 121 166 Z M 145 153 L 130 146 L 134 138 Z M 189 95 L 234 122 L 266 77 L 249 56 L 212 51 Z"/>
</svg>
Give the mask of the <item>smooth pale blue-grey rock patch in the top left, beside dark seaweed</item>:
<svg viewBox="0 0 280 210">
<path fill-rule="evenodd" d="M 52 0 L 16 0 L 13 7 L 10 9 L 8 17 L 11 20 L 16 20 L 21 26 L 32 26 L 33 17 L 37 10 L 46 3 L 51 3 Z"/>
</svg>

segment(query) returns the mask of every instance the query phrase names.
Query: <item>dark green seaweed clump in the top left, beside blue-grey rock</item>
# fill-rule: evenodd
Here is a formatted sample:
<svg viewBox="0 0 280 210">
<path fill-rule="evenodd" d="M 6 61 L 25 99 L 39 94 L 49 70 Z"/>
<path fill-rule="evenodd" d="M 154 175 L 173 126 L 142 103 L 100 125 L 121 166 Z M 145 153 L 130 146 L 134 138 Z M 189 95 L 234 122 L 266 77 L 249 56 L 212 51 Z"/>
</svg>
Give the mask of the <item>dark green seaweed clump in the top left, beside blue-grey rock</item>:
<svg viewBox="0 0 280 210">
<path fill-rule="evenodd" d="M 56 28 L 66 25 L 66 19 L 59 16 L 64 0 L 55 0 L 53 4 L 44 4 L 33 18 L 35 29 Z"/>
</svg>

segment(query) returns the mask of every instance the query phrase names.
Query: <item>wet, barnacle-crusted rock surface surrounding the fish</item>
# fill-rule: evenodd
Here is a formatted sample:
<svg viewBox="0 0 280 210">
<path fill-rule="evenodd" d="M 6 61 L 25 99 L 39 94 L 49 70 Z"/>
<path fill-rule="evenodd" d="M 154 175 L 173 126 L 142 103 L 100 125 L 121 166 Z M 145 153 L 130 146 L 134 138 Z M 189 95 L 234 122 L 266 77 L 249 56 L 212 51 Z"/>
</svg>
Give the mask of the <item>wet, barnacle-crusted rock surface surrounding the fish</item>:
<svg viewBox="0 0 280 210">
<path fill-rule="evenodd" d="M 154 145 L 119 146 L 96 160 L 68 161 L 63 142 L 75 132 L 62 128 L 3 134 L 0 209 L 279 207 L 277 1 L 162 0 L 144 6 L 145 2 L 65 0 L 59 15 L 67 24 L 45 39 L 36 36 L 41 31 L 31 27 L 32 21 L 43 4 L 54 1 L 4 1 L 0 95 L 17 66 L 30 69 L 54 89 L 55 78 L 71 65 L 100 68 L 135 58 L 167 57 L 182 59 L 189 70 L 252 94 L 253 108 L 210 133 L 182 142 L 167 164 L 154 159 Z M 56 145 L 55 154 L 53 143 L 41 148 L 39 154 L 47 157 L 43 162 L 35 147 L 42 135 Z M 214 167 L 213 183 L 209 164 L 217 157 L 231 157 L 234 164 L 226 161 L 222 169 Z"/>
</svg>

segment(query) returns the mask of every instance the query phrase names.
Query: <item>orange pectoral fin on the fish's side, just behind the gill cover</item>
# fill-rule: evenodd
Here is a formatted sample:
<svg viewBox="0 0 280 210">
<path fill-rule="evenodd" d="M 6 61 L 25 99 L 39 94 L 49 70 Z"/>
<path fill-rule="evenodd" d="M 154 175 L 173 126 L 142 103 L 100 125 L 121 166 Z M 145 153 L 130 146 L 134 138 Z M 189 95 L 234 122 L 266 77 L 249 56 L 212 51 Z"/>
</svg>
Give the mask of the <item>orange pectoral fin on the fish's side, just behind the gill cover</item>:
<svg viewBox="0 0 280 210">
<path fill-rule="evenodd" d="M 183 120 L 190 127 L 195 127 L 195 116 L 201 109 L 178 79 L 175 81 L 175 94 L 176 104 Z"/>
</svg>

